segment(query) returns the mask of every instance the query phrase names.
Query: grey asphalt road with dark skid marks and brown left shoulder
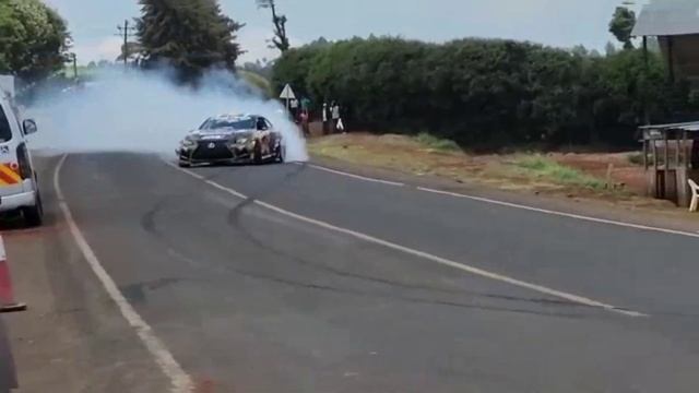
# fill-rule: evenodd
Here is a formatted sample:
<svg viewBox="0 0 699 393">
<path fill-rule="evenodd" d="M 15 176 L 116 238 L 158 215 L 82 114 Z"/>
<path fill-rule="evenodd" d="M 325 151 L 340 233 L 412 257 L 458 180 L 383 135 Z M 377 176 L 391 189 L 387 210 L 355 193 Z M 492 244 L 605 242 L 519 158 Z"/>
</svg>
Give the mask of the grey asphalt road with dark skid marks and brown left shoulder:
<svg viewBox="0 0 699 393">
<path fill-rule="evenodd" d="M 43 160 L 47 227 L 7 235 L 19 291 L 44 312 L 9 323 L 21 392 L 167 391 L 76 247 L 57 164 Z M 59 181 L 100 266 L 200 392 L 699 389 L 696 237 L 295 164 L 185 172 L 70 155 Z"/>
</svg>

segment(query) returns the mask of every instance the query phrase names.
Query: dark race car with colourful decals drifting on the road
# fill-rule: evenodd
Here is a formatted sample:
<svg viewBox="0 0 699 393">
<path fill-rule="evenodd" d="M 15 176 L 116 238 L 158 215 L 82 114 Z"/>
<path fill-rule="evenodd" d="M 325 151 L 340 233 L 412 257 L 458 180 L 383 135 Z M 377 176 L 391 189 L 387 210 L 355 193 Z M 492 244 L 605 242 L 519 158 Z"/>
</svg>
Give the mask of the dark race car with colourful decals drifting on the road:
<svg viewBox="0 0 699 393">
<path fill-rule="evenodd" d="M 283 163 L 286 146 L 274 126 L 258 115 L 221 115 L 190 131 L 176 151 L 179 166 Z"/>
</svg>

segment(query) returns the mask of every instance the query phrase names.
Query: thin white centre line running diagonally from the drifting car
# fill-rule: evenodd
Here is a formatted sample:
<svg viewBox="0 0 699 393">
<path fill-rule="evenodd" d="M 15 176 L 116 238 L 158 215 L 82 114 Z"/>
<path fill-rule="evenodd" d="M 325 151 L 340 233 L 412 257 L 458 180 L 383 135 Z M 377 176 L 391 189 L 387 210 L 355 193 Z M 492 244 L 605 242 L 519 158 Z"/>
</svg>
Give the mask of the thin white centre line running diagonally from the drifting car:
<svg viewBox="0 0 699 393">
<path fill-rule="evenodd" d="M 176 165 L 170 165 L 170 167 L 173 167 L 175 169 L 178 169 L 178 170 L 180 170 L 180 171 L 182 171 L 182 172 L 185 172 L 185 174 L 187 174 L 189 176 L 196 175 L 191 170 L 179 168 Z M 206 181 L 206 183 L 211 183 L 211 182 L 212 182 L 211 180 Z M 235 195 L 237 198 L 240 198 L 240 199 L 246 199 L 246 200 L 248 199 L 242 193 L 240 193 L 240 192 L 238 192 L 236 190 L 233 190 L 230 188 L 227 188 L 225 186 L 221 186 L 218 183 L 216 183 L 216 189 L 225 190 L 227 193 L 233 194 L 233 195 Z M 561 290 L 557 290 L 557 289 L 552 289 L 552 288 L 548 288 L 548 287 L 545 287 L 545 286 L 542 286 L 542 285 L 528 283 L 528 282 L 524 282 L 524 281 L 521 281 L 521 279 L 517 279 L 517 278 L 512 278 L 512 277 L 509 277 L 509 276 L 506 276 L 506 275 L 502 275 L 502 274 L 489 272 L 489 271 L 486 271 L 486 270 L 483 270 L 483 269 L 479 269 L 479 267 L 471 266 L 471 265 L 467 265 L 467 264 L 464 264 L 464 263 L 460 263 L 460 262 L 455 262 L 455 261 L 452 261 L 452 260 L 449 260 L 449 259 L 446 259 L 446 258 L 437 257 L 437 255 L 430 254 L 428 252 L 418 251 L 418 250 L 415 250 L 415 249 L 412 249 L 412 248 L 408 248 L 408 247 L 400 246 L 400 245 L 396 245 L 394 242 L 391 242 L 391 241 L 388 241 L 388 240 L 383 240 L 383 239 L 379 239 L 377 237 L 374 237 L 374 236 L 370 236 L 370 235 L 366 235 L 366 234 L 363 234 L 363 233 L 359 233 L 359 231 L 356 231 L 356 230 L 342 228 L 342 227 L 339 227 L 339 226 L 335 226 L 335 225 L 332 225 L 332 224 L 329 224 L 329 223 L 325 223 L 325 222 L 322 222 L 322 221 L 319 221 L 319 219 L 315 219 L 315 218 L 310 218 L 310 217 L 307 217 L 307 216 L 304 216 L 304 215 L 300 215 L 300 214 L 296 214 L 296 213 L 289 212 L 287 210 L 284 210 L 282 207 L 269 204 L 266 202 L 253 200 L 252 203 L 254 203 L 254 204 L 257 204 L 257 205 L 259 205 L 261 207 L 271 210 L 273 212 L 283 214 L 283 215 L 285 215 L 287 217 L 292 217 L 292 218 L 298 219 L 300 222 L 312 224 L 312 225 L 319 226 L 321 228 L 330 229 L 330 230 L 333 230 L 333 231 L 336 231 L 336 233 L 345 234 L 345 235 L 352 236 L 354 238 L 357 238 L 357 239 L 360 239 L 360 240 L 364 240 L 364 241 L 368 241 L 368 242 L 372 242 L 372 243 L 376 243 L 376 245 L 380 245 L 380 246 L 383 246 L 386 248 L 393 249 L 393 250 L 396 250 L 396 251 L 401 251 L 401 252 L 404 252 L 404 253 L 407 253 L 407 254 L 411 254 L 411 255 L 419 257 L 419 258 L 426 259 L 428 261 L 433 261 L 433 262 L 439 263 L 441 265 L 446 265 L 446 266 L 449 266 L 449 267 L 453 267 L 453 269 L 460 270 L 460 271 L 465 272 L 465 273 L 470 273 L 470 274 L 473 274 L 473 275 L 477 275 L 477 276 L 481 276 L 481 277 L 489 278 L 489 279 L 493 279 L 493 281 L 501 282 L 501 283 L 507 283 L 507 284 L 510 284 L 510 285 L 516 286 L 516 287 L 534 290 L 534 291 L 537 291 L 540 294 L 544 294 L 544 295 L 553 296 L 553 297 L 556 297 L 556 298 L 559 298 L 559 299 L 568 300 L 568 301 L 577 303 L 577 305 L 599 308 L 599 309 L 603 309 L 603 310 L 606 310 L 606 311 L 609 311 L 609 312 L 619 313 L 619 314 L 623 314 L 623 315 L 626 315 L 626 317 L 636 317 L 636 318 L 638 318 L 638 317 L 649 317 L 648 314 L 642 313 L 642 312 L 627 310 L 627 309 L 619 308 L 619 307 L 616 307 L 616 306 L 612 306 L 612 305 L 608 305 L 608 303 L 605 303 L 605 302 L 602 302 L 602 301 L 593 300 L 593 299 L 590 299 L 590 298 L 587 298 L 587 297 L 583 297 L 583 296 L 578 296 L 578 295 L 565 293 L 565 291 L 561 291 Z"/>
</svg>

